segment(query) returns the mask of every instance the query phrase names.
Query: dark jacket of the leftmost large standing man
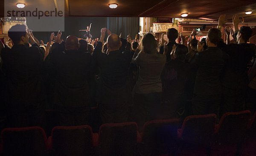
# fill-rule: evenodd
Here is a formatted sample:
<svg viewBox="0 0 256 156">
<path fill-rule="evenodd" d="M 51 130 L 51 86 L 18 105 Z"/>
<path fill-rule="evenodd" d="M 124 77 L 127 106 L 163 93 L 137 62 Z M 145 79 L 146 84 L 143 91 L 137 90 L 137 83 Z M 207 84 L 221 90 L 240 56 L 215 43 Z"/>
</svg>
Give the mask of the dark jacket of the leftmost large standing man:
<svg viewBox="0 0 256 156">
<path fill-rule="evenodd" d="M 44 101 L 42 80 L 44 54 L 37 44 L 17 44 L 2 49 L 2 69 L 7 77 L 4 99 L 7 103 L 29 106 Z"/>
</svg>

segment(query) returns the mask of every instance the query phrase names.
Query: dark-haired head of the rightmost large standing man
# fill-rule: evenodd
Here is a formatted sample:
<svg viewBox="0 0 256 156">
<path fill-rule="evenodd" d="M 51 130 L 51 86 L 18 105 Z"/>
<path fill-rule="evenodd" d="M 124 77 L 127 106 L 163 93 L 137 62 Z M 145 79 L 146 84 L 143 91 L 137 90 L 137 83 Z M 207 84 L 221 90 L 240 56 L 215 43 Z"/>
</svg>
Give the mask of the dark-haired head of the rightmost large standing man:
<svg viewBox="0 0 256 156">
<path fill-rule="evenodd" d="M 246 43 L 253 34 L 253 30 L 248 26 L 241 26 L 239 32 L 236 35 L 237 42 Z"/>
</svg>

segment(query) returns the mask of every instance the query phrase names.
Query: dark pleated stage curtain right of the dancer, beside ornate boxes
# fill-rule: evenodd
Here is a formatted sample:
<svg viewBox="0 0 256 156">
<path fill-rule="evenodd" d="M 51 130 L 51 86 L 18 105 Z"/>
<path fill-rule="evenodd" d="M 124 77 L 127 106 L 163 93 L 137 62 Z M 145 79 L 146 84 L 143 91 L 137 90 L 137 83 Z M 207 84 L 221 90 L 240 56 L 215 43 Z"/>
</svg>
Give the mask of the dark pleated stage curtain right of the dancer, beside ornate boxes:
<svg viewBox="0 0 256 156">
<path fill-rule="evenodd" d="M 113 33 L 119 35 L 122 32 L 122 38 L 131 35 L 134 39 L 135 35 L 140 32 L 139 17 L 107 17 L 107 28 Z"/>
</svg>

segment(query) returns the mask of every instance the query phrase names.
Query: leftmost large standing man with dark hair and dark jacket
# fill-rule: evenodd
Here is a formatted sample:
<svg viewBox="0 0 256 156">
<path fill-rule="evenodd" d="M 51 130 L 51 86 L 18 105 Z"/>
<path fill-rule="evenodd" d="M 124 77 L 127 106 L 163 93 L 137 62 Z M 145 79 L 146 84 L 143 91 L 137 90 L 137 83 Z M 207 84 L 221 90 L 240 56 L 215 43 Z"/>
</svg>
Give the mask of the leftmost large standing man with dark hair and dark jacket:
<svg viewBox="0 0 256 156">
<path fill-rule="evenodd" d="M 44 54 L 38 40 L 25 25 L 8 31 L 14 46 L 2 49 L 2 70 L 7 83 L 4 91 L 9 127 L 44 127 L 45 90 L 42 81 Z M 32 45 L 29 47 L 29 43 Z"/>
</svg>

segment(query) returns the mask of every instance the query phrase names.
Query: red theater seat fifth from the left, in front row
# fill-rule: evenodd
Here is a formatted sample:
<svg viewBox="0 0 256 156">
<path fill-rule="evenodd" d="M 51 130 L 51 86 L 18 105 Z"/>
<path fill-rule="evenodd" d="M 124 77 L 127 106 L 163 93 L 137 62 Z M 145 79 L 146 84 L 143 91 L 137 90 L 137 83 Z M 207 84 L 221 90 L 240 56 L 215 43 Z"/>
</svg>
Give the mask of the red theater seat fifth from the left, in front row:
<svg viewBox="0 0 256 156">
<path fill-rule="evenodd" d="M 207 114 L 184 119 L 178 130 L 180 156 L 201 156 L 209 152 L 216 118 L 215 114 Z"/>
</svg>

